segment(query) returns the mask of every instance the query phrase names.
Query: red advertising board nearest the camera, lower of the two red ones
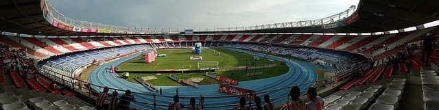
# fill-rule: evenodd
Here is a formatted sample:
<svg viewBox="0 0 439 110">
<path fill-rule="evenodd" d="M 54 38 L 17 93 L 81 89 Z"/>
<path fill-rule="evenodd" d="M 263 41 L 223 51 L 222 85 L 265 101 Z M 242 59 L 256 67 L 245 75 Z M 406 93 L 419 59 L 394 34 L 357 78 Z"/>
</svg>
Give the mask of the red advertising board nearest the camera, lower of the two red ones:
<svg viewBox="0 0 439 110">
<path fill-rule="evenodd" d="M 252 90 L 247 90 L 240 87 L 234 87 L 232 85 L 227 85 L 227 84 L 219 84 L 218 92 L 226 93 L 226 94 L 236 94 L 236 95 L 251 94 L 252 98 L 254 98 L 254 95 L 256 93 Z"/>
</svg>

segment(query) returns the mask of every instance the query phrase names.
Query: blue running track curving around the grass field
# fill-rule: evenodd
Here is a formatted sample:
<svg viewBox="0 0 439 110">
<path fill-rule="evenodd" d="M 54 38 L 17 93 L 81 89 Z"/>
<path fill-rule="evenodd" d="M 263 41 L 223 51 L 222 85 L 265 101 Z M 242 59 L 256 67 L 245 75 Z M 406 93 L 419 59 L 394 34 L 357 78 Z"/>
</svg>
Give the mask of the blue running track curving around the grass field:
<svg viewBox="0 0 439 110">
<path fill-rule="evenodd" d="M 233 51 L 239 51 L 242 53 L 257 55 L 259 57 L 263 57 L 265 54 L 263 53 L 254 53 L 250 51 L 245 51 L 241 49 L 230 49 Z M 117 74 L 110 73 L 110 66 L 118 66 L 124 61 L 128 61 L 134 57 L 141 55 L 141 53 L 131 55 L 129 57 L 124 57 L 116 61 L 108 62 L 107 64 L 103 64 L 98 66 L 91 72 L 88 77 L 88 82 L 101 85 L 108 86 L 112 88 L 117 88 L 119 90 L 131 90 L 132 92 L 145 93 L 145 94 L 157 94 L 155 92 L 151 92 L 147 90 L 145 87 L 138 83 L 130 83 L 124 79 L 120 79 Z M 285 74 L 279 75 L 277 77 L 270 77 L 267 79 L 257 79 L 253 81 L 240 81 L 237 87 L 243 87 L 249 90 L 254 90 L 256 92 L 266 92 L 263 94 L 257 94 L 257 96 L 261 96 L 263 98 L 264 94 L 270 94 L 270 97 L 273 98 L 273 102 L 279 104 L 281 102 L 285 102 L 287 100 L 287 94 L 289 92 L 288 88 L 292 85 L 299 85 L 302 83 L 309 83 L 313 81 L 317 81 L 318 74 L 314 68 L 318 68 L 318 65 L 311 64 L 306 61 L 289 61 L 283 57 L 276 57 L 274 55 L 266 55 L 269 59 L 274 59 L 277 61 L 285 61 L 287 66 L 289 66 L 289 71 Z M 107 69 L 107 70 L 106 70 Z M 264 74 L 270 74 L 265 72 Z M 300 90 L 302 90 L 302 94 L 305 94 L 307 87 L 311 87 L 313 83 L 300 85 Z M 179 96 L 180 97 L 199 97 L 200 95 L 206 97 L 204 100 L 204 106 L 206 106 L 206 110 L 210 109 L 230 109 L 231 107 L 215 107 L 209 108 L 209 106 L 219 106 L 219 105 L 236 105 L 239 103 L 239 98 L 235 96 L 227 96 L 226 94 L 221 94 L 218 91 L 218 84 L 215 85 L 200 85 L 199 88 L 190 87 L 190 86 L 157 86 L 163 89 L 163 95 L 165 96 L 174 96 L 176 94 L 176 87 L 178 87 Z M 285 88 L 282 90 L 278 90 L 279 88 Z M 98 92 L 102 91 L 100 87 L 93 87 L 93 89 Z M 267 92 L 270 90 L 275 90 L 271 92 Z M 119 94 L 123 94 L 123 92 L 119 92 Z M 141 94 L 134 94 L 134 97 L 139 102 L 147 102 L 152 104 L 153 96 L 145 96 Z M 157 96 L 156 103 L 158 105 L 168 105 L 172 99 L 169 97 Z M 263 100 L 262 100 L 263 101 Z M 153 109 L 152 105 L 141 104 L 139 102 L 132 102 L 131 107 L 135 107 L 137 109 Z M 185 105 L 189 104 L 189 99 L 180 98 L 180 102 Z M 198 103 L 198 101 L 197 101 Z M 167 109 L 167 107 L 158 106 L 158 110 Z"/>
</svg>

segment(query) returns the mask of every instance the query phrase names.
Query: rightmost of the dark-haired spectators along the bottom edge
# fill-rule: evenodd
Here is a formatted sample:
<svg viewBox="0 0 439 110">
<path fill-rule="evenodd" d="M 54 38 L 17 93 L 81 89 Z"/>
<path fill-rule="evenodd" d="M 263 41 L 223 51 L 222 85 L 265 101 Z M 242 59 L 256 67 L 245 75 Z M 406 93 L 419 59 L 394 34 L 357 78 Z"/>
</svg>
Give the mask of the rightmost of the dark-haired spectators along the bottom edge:
<svg viewBox="0 0 439 110">
<path fill-rule="evenodd" d="M 317 96 L 317 90 L 314 87 L 309 87 L 307 96 L 309 102 L 307 102 L 307 106 L 309 110 L 322 110 L 324 107 L 323 99 L 320 96 Z"/>
</svg>

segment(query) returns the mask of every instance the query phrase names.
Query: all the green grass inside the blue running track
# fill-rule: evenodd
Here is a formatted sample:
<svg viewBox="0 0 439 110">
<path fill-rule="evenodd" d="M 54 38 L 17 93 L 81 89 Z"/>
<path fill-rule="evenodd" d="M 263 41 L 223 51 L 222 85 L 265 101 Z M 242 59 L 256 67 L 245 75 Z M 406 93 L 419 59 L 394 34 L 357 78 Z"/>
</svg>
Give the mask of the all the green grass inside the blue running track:
<svg viewBox="0 0 439 110">
<path fill-rule="evenodd" d="M 237 81 L 250 81 L 255 79 L 264 79 L 268 77 L 276 77 L 281 74 L 285 74 L 288 71 L 288 67 L 285 65 L 280 65 L 278 61 L 269 61 L 266 59 L 262 59 L 259 61 L 255 61 L 255 65 L 261 66 L 262 61 L 263 64 L 274 64 L 276 66 L 272 68 L 264 68 L 264 69 L 254 69 L 254 70 L 230 70 L 230 71 L 221 71 L 221 69 L 228 69 L 232 67 L 237 66 L 246 66 L 246 60 L 247 64 L 250 64 L 250 59 L 252 59 L 252 55 L 247 55 L 244 53 L 239 53 L 235 51 L 230 51 L 227 49 L 215 49 L 215 51 L 219 51 L 221 55 L 214 55 L 213 49 L 203 49 L 202 50 L 202 61 L 218 61 L 219 62 L 219 70 L 217 70 L 217 74 L 219 76 L 229 77 L 231 79 L 235 79 Z M 158 57 L 156 61 L 154 61 L 152 64 L 145 64 L 143 56 L 136 57 L 134 59 L 131 59 L 130 61 L 126 61 L 120 66 L 118 66 L 117 70 L 119 71 L 134 71 L 134 70 L 141 70 L 141 71 L 148 71 L 148 70 L 178 70 L 178 69 L 190 69 L 195 70 L 197 67 L 197 61 L 191 61 L 189 60 L 189 57 L 195 56 L 191 53 L 190 49 L 163 49 L 158 50 L 158 54 L 167 54 L 166 57 Z M 285 57 L 285 56 L 281 56 Z M 292 58 L 296 60 L 296 58 Z M 192 68 L 189 68 L 192 66 Z M 316 70 L 320 75 L 324 72 L 324 70 Z M 262 75 L 247 77 L 246 74 L 248 72 L 263 72 Z M 121 74 L 119 74 L 121 75 Z M 175 74 L 180 79 L 189 79 L 191 77 L 201 77 L 204 78 L 203 81 L 198 83 L 199 85 L 208 85 L 208 84 L 217 84 L 222 83 L 221 81 L 217 81 L 215 79 L 211 79 L 210 77 L 204 76 L 204 72 L 194 72 L 194 73 L 184 73 L 184 74 Z M 171 79 L 167 78 L 169 76 L 169 73 L 165 74 L 130 74 L 130 77 L 128 77 L 128 81 L 137 83 L 134 81 L 135 77 L 147 77 L 147 76 L 154 76 L 157 77 L 155 80 L 148 81 L 149 83 L 152 83 L 153 85 L 163 85 L 163 86 L 181 86 L 182 84 L 177 83 L 176 81 L 172 81 Z"/>
</svg>

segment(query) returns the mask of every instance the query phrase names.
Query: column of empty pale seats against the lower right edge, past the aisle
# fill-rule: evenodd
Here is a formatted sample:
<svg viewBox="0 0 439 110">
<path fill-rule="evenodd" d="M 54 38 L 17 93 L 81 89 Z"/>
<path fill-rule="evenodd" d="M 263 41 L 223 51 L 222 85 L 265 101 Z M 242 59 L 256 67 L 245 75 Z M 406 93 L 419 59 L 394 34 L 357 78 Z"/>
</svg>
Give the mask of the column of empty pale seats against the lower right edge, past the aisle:
<svg viewBox="0 0 439 110">
<path fill-rule="evenodd" d="M 439 109 L 439 76 L 431 68 L 420 71 L 420 81 L 423 90 L 424 110 Z"/>
</svg>

